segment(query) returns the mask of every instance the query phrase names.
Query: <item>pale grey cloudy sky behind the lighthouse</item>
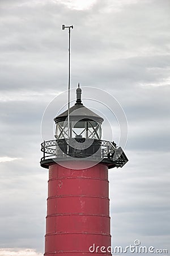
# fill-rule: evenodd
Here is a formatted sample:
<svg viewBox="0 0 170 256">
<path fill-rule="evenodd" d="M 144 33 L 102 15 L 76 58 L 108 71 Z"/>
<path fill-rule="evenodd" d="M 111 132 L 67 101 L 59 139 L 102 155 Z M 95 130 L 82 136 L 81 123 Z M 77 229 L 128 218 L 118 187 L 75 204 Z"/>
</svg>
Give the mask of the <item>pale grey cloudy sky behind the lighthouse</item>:
<svg viewBox="0 0 170 256">
<path fill-rule="evenodd" d="M 48 123 L 54 139 L 57 100 L 67 90 L 62 24 L 74 26 L 71 88 L 104 90 L 128 120 L 129 162 L 109 170 L 112 245 L 139 240 L 170 253 L 169 13 L 169 0 L 0 1 L 0 256 L 44 253 L 41 120 L 56 102 Z M 114 115 L 107 117 L 117 142 Z M 103 138 L 112 140 L 104 127 Z"/>
</svg>

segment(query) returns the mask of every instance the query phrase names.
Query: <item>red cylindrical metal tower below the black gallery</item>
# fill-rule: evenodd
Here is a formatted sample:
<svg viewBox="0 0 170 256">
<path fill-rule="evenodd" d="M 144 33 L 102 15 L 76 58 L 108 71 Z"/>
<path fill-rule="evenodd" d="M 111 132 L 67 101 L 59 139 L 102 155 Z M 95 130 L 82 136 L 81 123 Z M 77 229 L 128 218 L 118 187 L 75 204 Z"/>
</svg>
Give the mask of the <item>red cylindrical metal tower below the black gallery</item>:
<svg viewBox="0 0 170 256">
<path fill-rule="evenodd" d="M 45 255 L 89 255 L 94 243 L 111 245 L 107 166 L 99 163 L 74 170 L 53 164 L 49 167 Z"/>
</svg>

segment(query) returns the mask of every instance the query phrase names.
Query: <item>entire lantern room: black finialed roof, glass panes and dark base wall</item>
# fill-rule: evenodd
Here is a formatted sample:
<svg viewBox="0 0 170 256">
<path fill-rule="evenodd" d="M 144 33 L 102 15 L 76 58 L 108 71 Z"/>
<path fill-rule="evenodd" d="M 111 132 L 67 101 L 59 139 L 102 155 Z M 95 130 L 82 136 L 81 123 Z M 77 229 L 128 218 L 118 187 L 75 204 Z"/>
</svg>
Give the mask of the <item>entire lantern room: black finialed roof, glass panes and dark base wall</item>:
<svg viewBox="0 0 170 256">
<path fill-rule="evenodd" d="M 81 94 L 82 89 L 78 84 L 75 105 L 54 118 L 57 155 L 63 152 L 75 158 L 86 158 L 101 154 L 101 124 L 104 119 L 83 106 Z"/>
</svg>

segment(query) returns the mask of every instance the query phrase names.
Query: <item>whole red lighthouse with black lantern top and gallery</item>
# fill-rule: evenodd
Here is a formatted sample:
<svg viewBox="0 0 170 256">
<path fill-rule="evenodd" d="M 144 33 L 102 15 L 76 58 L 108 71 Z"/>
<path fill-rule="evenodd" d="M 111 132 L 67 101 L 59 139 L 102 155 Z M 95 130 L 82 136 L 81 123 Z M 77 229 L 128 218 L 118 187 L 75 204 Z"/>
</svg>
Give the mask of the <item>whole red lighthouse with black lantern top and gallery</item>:
<svg viewBox="0 0 170 256">
<path fill-rule="evenodd" d="M 75 104 L 54 118 L 55 138 L 41 143 L 40 164 L 49 170 L 48 256 L 112 255 L 108 171 L 128 158 L 101 139 L 104 119 L 83 105 L 82 93 L 78 85 Z"/>
</svg>

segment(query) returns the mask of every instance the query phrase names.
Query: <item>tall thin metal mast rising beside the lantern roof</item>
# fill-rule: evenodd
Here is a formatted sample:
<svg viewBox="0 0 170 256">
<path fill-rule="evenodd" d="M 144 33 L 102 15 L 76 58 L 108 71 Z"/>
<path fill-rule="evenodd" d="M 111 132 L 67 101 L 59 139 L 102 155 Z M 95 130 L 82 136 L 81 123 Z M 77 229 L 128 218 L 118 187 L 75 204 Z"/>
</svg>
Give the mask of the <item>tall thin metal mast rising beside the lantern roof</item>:
<svg viewBox="0 0 170 256">
<path fill-rule="evenodd" d="M 65 28 L 69 28 L 69 90 L 68 90 L 68 139 L 70 137 L 70 28 L 73 28 L 72 26 L 65 26 L 62 25 L 62 30 L 65 30 Z"/>
</svg>

